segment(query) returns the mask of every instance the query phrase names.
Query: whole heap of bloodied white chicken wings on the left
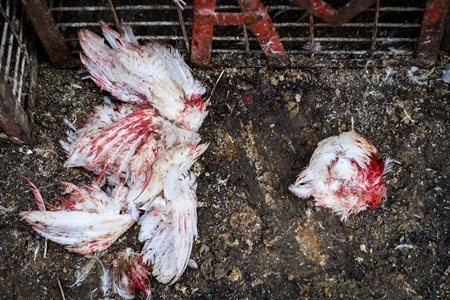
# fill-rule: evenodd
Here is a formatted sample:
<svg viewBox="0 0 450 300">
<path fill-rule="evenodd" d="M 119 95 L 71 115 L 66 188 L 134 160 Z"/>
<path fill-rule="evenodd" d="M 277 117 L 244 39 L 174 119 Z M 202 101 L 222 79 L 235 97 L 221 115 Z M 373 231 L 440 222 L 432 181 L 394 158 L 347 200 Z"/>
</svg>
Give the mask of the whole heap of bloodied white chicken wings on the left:
<svg viewBox="0 0 450 300">
<path fill-rule="evenodd" d="M 81 254 L 106 249 L 139 219 L 142 253 L 115 255 L 102 276 L 104 291 L 132 299 L 135 289 L 150 296 L 145 264 L 159 281 L 174 283 L 189 261 L 197 236 L 197 185 L 189 169 L 208 147 L 197 133 L 207 115 L 205 88 L 173 48 L 139 45 L 127 26 L 123 35 L 101 27 L 111 47 L 81 30 L 81 61 L 101 89 L 127 103 L 97 107 L 80 129 L 71 125 L 68 142 L 61 143 L 66 167 L 99 177 L 90 186 L 65 183 L 72 195 L 55 211 L 21 216 L 39 234 Z M 112 193 L 105 186 L 114 187 Z"/>
</svg>

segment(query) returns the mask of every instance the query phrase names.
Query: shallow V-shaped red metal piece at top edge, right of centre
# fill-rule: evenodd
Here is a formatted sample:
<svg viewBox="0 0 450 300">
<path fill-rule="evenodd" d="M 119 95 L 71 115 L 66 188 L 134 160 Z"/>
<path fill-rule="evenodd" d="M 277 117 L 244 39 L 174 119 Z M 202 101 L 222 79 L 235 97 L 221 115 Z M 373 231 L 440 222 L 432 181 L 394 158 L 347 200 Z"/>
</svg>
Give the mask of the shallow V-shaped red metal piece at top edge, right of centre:
<svg viewBox="0 0 450 300">
<path fill-rule="evenodd" d="M 377 0 L 351 0 L 338 10 L 322 0 L 291 1 L 325 22 L 333 25 L 342 25 L 372 6 Z"/>
</svg>

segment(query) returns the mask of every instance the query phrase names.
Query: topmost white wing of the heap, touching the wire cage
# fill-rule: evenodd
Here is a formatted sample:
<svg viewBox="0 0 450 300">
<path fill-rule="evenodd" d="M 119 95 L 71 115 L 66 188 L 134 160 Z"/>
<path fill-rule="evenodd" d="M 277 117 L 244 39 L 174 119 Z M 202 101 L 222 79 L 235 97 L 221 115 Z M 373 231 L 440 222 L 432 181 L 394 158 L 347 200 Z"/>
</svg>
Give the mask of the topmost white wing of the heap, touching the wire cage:
<svg viewBox="0 0 450 300">
<path fill-rule="evenodd" d="M 178 51 L 155 42 L 139 45 L 128 26 L 123 35 L 104 22 L 101 27 L 111 48 L 95 33 L 79 31 L 81 61 L 92 80 L 121 101 L 151 104 L 165 118 L 197 131 L 207 115 L 205 88 Z"/>
</svg>

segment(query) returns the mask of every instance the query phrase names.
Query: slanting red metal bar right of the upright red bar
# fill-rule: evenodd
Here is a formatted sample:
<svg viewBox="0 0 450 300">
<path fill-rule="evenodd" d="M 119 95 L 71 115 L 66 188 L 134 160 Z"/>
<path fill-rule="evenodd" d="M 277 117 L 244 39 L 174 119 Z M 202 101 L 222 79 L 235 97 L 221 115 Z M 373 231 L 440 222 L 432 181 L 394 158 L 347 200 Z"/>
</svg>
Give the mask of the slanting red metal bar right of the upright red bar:
<svg viewBox="0 0 450 300">
<path fill-rule="evenodd" d="M 262 19 L 250 23 L 256 39 L 266 58 L 274 65 L 283 66 L 289 63 L 289 57 L 284 50 L 281 39 L 275 32 L 266 7 L 259 0 L 238 0 L 242 12 L 262 16 Z"/>
</svg>

